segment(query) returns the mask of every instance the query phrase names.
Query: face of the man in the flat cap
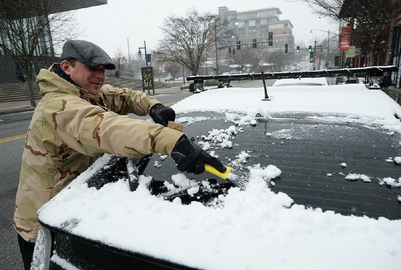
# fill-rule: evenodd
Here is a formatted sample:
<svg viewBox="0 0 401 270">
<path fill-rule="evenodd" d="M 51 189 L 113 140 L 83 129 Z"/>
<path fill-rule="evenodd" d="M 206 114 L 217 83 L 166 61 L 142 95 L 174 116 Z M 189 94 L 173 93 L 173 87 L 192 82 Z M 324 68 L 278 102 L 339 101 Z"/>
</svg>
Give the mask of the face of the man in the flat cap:
<svg viewBox="0 0 401 270">
<path fill-rule="evenodd" d="M 104 65 L 89 67 L 83 62 L 76 61 L 75 65 L 72 66 L 67 60 L 63 60 L 60 65 L 75 83 L 91 94 L 100 95 L 100 87 L 102 87 L 105 78 L 106 68 Z"/>
</svg>

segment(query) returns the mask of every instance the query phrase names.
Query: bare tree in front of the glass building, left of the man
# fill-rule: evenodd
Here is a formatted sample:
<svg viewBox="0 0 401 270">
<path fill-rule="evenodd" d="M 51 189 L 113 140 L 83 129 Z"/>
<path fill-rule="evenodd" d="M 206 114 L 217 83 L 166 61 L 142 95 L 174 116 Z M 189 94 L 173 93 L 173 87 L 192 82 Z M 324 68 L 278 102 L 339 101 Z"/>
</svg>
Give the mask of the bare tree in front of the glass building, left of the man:
<svg viewBox="0 0 401 270">
<path fill-rule="evenodd" d="M 54 60 L 54 47 L 79 34 L 72 12 L 55 13 L 56 0 L 3 0 L 0 4 L 0 51 L 19 63 L 27 76 L 31 105 L 35 59 Z"/>
</svg>

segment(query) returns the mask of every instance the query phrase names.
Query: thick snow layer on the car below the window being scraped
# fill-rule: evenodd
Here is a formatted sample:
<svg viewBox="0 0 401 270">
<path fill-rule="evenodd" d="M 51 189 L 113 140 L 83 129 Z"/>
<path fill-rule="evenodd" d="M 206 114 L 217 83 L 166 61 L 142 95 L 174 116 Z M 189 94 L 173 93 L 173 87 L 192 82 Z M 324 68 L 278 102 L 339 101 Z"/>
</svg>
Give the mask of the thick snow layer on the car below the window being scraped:
<svg viewBox="0 0 401 270">
<path fill-rule="evenodd" d="M 99 190 L 88 188 L 86 177 L 107 158 L 43 206 L 39 218 L 52 226 L 71 224 L 76 235 L 202 269 L 310 269 L 311 254 L 316 269 L 399 267 L 401 220 L 343 216 L 294 204 L 287 194 L 269 188 L 281 173 L 276 166 L 249 166 L 245 190 L 231 188 L 216 207 L 207 207 L 151 195 L 150 176 L 141 175 L 134 192 L 123 179 Z M 196 196 L 199 183 L 182 173 L 172 179 Z M 128 226 L 121 229 L 121 224 Z"/>
</svg>

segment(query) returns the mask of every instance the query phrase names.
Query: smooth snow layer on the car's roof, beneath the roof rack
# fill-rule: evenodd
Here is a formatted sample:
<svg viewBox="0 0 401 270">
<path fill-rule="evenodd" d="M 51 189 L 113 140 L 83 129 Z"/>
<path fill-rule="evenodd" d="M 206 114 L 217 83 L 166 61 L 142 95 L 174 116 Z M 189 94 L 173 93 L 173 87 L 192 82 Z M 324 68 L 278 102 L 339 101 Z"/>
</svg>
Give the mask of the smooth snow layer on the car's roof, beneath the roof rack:
<svg viewBox="0 0 401 270">
<path fill-rule="evenodd" d="M 401 131 L 401 122 L 394 117 L 401 116 L 401 107 L 383 91 L 367 89 L 364 84 L 267 87 L 267 92 L 270 101 L 262 100 L 263 87 L 210 89 L 193 94 L 172 108 L 176 112 L 240 111 L 263 116 L 275 112 L 346 114 L 345 121 L 374 120 L 388 129 Z"/>
</svg>

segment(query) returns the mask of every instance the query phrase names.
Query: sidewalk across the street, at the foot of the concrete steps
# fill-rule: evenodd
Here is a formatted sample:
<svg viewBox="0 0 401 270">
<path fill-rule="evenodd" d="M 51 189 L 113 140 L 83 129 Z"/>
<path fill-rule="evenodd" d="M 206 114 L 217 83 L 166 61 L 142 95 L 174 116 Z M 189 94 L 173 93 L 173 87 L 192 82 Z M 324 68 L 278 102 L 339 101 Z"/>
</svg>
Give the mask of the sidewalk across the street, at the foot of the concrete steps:
<svg viewBox="0 0 401 270">
<path fill-rule="evenodd" d="M 172 86 L 172 87 L 154 89 L 154 93 L 150 89 L 150 95 L 177 94 L 177 93 L 182 93 L 182 91 L 189 91 L 189 90 L 188 89 L 180 90 L 179 86 Z M 145 92 L 147 93 L 146 90 L 145 90 Z M 38 104 L 39 100 L 40 99 L 36 99 L 36 104 Z M 31 111 L 34 109 L 35 109 L 35 107 L 31 107 L 30 100 L 0 102 L 0 115 L 23 112 L 23 111 Z"/>
</svg>

